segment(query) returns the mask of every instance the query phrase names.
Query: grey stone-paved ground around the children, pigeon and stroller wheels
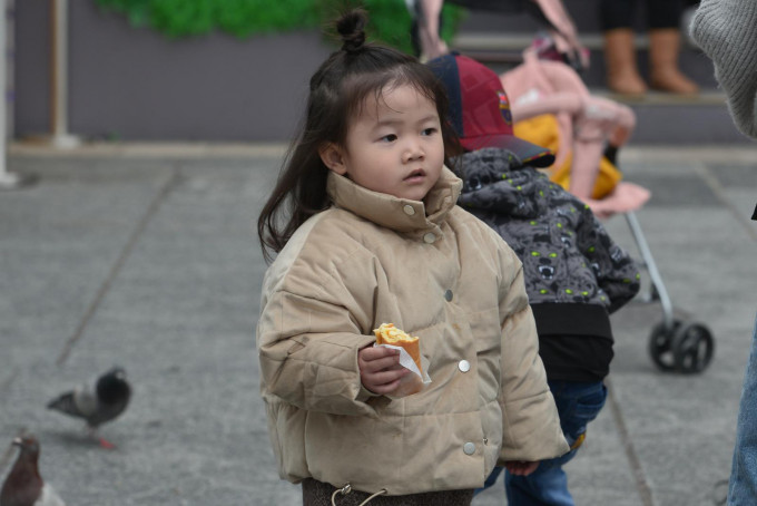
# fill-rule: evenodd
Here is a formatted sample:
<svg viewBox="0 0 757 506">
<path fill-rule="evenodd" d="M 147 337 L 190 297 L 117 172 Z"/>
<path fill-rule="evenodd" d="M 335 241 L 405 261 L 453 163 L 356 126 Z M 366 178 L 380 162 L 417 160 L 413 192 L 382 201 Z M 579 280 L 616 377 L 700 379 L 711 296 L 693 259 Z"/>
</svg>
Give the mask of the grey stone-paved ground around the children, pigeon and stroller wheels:
<svg viewBox="0 0 757 506">
<path fill-rule="evenodd" d="M 298 504 L 275 471 L 254 351 L 255 220 L 281 153 L 12 146 L 9 168 L 39 181 L 0 193 L 0 477 L 27 430 L 69 505 Z M 637 216 L 676 313 L 711 330 L 716 357 L 702 374 L 661 373 L 647 353 L 660 305 L 617 313 L 609 403 L 572 490 L 581 505 L 717 504 L 756 308 L 757 147 L 633 147 L 621 162 L 653 191 Z M 622 217 L 608 227 L 637 251 Z M 135 396 L 101 430 L 108 451 L 45 403 L 115 363 Z M 499 487 L 475 500 L 503 503 Z"/>
</svg>

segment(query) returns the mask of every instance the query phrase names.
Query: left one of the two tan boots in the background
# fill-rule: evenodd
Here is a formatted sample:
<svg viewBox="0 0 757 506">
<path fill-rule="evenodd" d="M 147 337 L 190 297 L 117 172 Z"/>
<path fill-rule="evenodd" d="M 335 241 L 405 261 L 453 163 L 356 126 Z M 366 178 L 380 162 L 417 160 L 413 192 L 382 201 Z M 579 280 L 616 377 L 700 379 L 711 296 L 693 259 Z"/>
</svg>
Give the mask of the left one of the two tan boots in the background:
<svg viewBox="0 0 757 506">
<path fill-rule="evenodd" d="M 635 33 L 630 28 L 616 28 L 604 32 L 604 62 L 607 86 L 615 93 L 641 95 L 647 85 L 636 66 Z"/>
</svg>

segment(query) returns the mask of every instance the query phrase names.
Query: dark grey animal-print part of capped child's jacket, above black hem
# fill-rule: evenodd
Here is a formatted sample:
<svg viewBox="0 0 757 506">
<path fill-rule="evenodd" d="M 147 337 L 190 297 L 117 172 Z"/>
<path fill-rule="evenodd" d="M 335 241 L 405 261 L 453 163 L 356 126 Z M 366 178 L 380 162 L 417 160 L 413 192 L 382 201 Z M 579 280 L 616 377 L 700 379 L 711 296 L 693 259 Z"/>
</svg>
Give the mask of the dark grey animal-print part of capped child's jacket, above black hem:
<svg viewBox="0 0 757 506">
<path fill-rule="evenodd" d="M 458 203 L 521 259 L 531 305 L 599 304 L 611 313 L 639 291 L 630 256 L 583 202 L 547 175 L 498 148 L 466 153 L 455 165 L 463 179 Z"/>
</svg>

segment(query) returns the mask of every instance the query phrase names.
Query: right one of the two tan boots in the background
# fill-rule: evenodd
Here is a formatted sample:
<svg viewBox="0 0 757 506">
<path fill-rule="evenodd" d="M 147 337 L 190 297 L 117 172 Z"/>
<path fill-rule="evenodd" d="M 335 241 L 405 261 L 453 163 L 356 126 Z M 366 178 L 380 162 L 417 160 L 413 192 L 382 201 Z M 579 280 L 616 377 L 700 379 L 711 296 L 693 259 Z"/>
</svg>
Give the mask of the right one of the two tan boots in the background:
<svg viewBox="0 0 757 506">
<path fill-rule="evenodd" d="M 652 88 L 680 95 L 695 95 L 699 87 L 678 69 L 681 35 L 677 28 L 649 31 L 649 81 Z"/>
</svg>

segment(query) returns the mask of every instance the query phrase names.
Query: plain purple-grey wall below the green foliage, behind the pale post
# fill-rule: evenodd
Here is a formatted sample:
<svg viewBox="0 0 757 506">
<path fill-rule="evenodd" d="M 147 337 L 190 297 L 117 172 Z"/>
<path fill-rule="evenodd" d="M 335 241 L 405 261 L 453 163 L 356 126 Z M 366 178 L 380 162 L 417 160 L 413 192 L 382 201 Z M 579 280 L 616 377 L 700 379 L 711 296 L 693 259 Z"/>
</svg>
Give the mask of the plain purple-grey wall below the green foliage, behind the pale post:
<svg viewBox="0 0 757 506">
<path fill-rule="evenodd" d="M 16 137 L 49 133 L 49 2 L 16 4 Z M 69 2 L 69 132 L 83 138 L 286 140 L 330 48 L 316 32 L 180 40 Z M 275 57 L 274 57 L 275 55 Z"/>
</svg>

